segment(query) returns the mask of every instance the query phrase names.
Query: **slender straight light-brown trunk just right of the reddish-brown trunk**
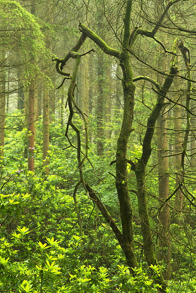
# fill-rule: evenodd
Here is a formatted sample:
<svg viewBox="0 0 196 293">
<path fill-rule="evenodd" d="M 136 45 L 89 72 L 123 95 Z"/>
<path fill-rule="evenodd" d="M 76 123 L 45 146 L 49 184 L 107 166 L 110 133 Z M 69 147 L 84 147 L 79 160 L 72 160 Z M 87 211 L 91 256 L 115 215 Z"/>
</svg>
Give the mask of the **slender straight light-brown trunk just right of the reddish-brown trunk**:
<svg viewBox="0 0 196 293">
<path fill-rule="evenodd" d="M 63 95 L 62 95 L 63 96 Z M 45 174 L 49 175 L 48 159 L 46 159 L 49 150 L 49 91 L 43 91 L 43 147 L 42 161 L 45 166 Z"/>
</svg>

